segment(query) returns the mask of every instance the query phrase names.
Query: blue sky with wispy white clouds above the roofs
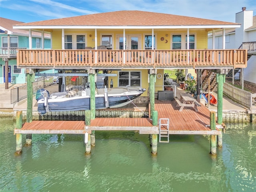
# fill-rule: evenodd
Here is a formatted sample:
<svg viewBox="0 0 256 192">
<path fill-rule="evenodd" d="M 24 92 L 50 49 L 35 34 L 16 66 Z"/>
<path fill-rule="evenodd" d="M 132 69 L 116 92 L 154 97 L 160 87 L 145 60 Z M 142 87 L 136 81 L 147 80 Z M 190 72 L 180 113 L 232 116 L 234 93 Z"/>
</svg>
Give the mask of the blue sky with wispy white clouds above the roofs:
<svg viewBox="0 0 256 192">
<path fill-rule="evenodd" d="M 253 10 L 256 0 L 0 0 L 0 17 L 34 22 L 120 10 L 141 10 L 235 22 L 235 14 Z"/>
</svg>

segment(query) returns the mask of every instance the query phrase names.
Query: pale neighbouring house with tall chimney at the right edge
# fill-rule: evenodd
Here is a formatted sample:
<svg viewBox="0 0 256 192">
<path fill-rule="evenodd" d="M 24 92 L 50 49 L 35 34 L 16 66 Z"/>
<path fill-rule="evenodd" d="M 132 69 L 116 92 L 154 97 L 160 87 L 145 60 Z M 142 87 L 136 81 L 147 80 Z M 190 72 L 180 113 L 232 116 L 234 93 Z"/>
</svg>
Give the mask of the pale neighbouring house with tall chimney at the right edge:
<svg viewBox="0 0 256 192">
<path fill-rule="evenodd" d="M 253 11 L 242 8 L 236 13 L 236 22 L 240 28 L 232 28 L 225 31 L 225 49 L 247 49 L 248 62 L 244 68 L 244 81 L 256 85 L 256 16 Z M 215 49 L 222 48 L 222 32 L 215 32 Z M 212 48 L 212 33 L 208 36 L 208 48 Z"/>
</svg>

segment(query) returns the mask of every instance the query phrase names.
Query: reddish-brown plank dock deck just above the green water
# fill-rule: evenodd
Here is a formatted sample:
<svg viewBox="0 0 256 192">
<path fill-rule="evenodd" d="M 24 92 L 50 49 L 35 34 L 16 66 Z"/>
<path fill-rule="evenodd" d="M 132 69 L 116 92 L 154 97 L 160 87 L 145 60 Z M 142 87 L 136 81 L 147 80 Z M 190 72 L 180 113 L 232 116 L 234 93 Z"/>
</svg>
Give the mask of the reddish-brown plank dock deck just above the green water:
<svg viewBox="0 0 256 192">
<path fill-rule="evenodd" d="M 184 108 L 179 111 L 174 101 L 155 100 L 155 110 L 159 118 L 169 118 L 169 134 L 208 134 L 218 135 L 221 130 L 210 130 L 210 111 L 205 106 Z M 87 127 L 87 129 L 86 129 Z M 165 127 L 165 129 L 167 129 Z M 152 126 L 149 118 L 96 118 L 90 126 L 84 121 L 32 121 L 25 123 L 14 134 L 85 134 L 91 130 L 130 130 L 140 134 L 159 134 L 158 126 Z"/>
</svg>

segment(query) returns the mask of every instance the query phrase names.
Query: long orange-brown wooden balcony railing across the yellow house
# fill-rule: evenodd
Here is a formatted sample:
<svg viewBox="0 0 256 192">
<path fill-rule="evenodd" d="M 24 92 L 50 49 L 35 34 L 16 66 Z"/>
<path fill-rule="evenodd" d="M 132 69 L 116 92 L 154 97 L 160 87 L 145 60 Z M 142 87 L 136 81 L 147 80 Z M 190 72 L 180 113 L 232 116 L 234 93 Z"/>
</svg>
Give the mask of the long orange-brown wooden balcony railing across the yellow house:
<svg viewBox="0 0 256 192">
<path fill-rule="evenodd" d="M 24 68 L 246 68 L 247 50 L 18 50 Z"/>
</svg>

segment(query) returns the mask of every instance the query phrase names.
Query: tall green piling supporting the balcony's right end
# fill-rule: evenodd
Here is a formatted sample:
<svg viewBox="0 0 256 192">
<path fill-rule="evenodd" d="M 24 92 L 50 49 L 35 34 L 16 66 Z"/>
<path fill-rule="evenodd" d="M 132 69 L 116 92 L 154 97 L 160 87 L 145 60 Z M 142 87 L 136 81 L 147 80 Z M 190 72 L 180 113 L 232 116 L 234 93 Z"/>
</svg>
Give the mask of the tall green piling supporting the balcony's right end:
<svg viewBox="0 0 256 192">
<path fill-rule="evenodd" d="M 218 83 L 218 109 L 217 109 L 217 122 L 222 124 L 222 104 L 223 104 L 223 84 L 225 82 L 226 74 L 217 74 Z M 222 147 L 222 134 L 217 136 L 218 147 Z"/>
</svg>

